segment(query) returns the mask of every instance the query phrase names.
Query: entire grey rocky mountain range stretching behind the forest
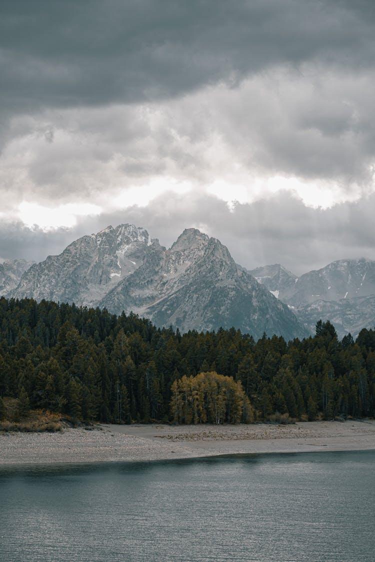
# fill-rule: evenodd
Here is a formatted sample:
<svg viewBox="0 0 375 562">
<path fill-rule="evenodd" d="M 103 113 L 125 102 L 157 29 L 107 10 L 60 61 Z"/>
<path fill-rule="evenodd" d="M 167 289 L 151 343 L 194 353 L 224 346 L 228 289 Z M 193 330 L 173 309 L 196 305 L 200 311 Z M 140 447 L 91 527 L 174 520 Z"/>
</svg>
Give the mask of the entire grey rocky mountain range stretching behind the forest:
<svg viewBox="0 0 375 562">
<path fill-rule="evenodd" d="M 0 264 L 0 294 L 133 311 L 157 326 L 239 328 L 257 339 L 313 334 L 321 318 L 342 337 L 375 325 L 375 261 L 340 260 L 296 277 L 282 265 L 246 270 L 216 238 L 186 229 L 169 249 L 121 224 L 79 238 L 40 263 Z"/>
</svg>

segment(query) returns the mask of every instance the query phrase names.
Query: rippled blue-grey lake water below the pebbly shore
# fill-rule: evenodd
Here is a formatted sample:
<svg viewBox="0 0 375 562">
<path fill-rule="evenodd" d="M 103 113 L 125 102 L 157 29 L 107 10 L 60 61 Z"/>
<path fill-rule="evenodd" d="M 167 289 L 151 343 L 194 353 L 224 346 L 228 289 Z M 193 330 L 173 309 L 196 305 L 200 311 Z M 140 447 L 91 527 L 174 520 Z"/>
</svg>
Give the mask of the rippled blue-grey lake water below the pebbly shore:
<svg viewBox="0 0 375 562">
<path fill-rule="evenodd" d="M 375 451 L 0 469 L 0 560 L 373 562 Z"/>
</svg>

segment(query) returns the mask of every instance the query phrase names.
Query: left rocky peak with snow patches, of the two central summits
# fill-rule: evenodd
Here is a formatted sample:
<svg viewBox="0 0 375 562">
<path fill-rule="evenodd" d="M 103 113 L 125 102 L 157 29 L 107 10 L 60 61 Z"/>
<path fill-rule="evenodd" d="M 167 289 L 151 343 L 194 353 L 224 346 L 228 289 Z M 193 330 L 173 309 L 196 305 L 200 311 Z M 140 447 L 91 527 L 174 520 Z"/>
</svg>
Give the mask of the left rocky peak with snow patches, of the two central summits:
<svg viewBox="0 0 375 562">
<path fill-rule="evenodd" d="M 83 236 L 22 276 L 12 296 L 96 306 L 120 279 L 132 274 L 152 243 L 146 230 L 124 224 Z"/>
</svg>

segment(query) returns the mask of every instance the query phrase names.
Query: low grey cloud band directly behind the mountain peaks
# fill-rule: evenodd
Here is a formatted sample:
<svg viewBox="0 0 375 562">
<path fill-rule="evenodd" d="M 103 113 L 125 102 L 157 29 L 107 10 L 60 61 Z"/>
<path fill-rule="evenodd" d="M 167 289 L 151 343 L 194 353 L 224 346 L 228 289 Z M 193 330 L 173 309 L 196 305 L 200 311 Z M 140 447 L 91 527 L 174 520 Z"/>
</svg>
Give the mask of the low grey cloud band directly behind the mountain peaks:
<svg viewBox="0 0 375 562">
<path fill-rule="evenodd" d="M 215 197 L 170 197 L 153 206 L 131 207 L 101 217 L 82 219 L 73 229 L 44 233 L 24 226 L 0 229 L 0 256 L 43 260 L 60 253 L 84 234 L 109 224 L 143 226 L 152 238 L 170 247 L 184 228 L 198 228 L 218 238 L 234 260 L 248 269 L 281 263 L 296 275 L 331 261 L 367 257 L 375 260 L 373 209 L 375 196 L 332 209 L 314 210 L 283 193 L 268 201 L 237 205 L 230 211 Z"/>
</svg>

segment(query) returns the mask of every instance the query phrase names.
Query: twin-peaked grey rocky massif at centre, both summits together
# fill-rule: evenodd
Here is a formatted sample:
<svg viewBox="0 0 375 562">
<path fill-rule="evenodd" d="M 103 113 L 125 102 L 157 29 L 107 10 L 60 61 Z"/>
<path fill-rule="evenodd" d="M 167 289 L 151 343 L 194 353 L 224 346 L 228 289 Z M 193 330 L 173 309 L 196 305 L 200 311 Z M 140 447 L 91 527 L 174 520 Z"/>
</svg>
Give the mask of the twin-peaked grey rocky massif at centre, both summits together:
<svg viewBox="0 0 375 562">
<path fill-rule="evenodd" d="M 292 311 L 237 266 L 227 248 L 187 229 L 169 250 L 143 228 L 109 226 L 22 275 L 12 296 L 136 312 L 181 331 L 240 328 L 286 339 L 306 330 Z"/>
</svg>

